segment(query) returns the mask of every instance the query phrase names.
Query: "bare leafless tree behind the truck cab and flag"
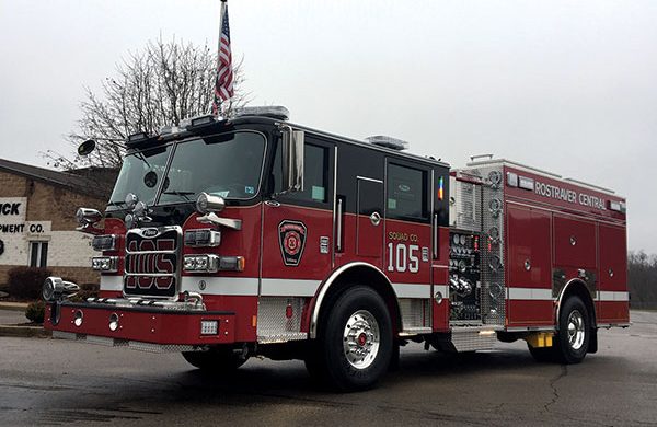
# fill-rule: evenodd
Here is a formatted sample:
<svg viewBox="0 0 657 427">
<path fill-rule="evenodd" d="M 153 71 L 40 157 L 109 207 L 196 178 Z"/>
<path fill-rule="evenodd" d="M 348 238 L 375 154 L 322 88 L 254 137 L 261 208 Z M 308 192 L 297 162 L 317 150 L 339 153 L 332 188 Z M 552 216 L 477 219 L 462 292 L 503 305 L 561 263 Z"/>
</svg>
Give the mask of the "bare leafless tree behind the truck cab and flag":
<svg viewBox="0 0 657 427">
<path fill-rule="evenodd" d="M 106 78 L 101 93 L 85 88 L 80 104 L 78 130 L 68 136 L 71 146 L 88 139 L 96 141 L 96 150 L 88 157 L 72 158 L 55 151 L 44 154 L 55 168 L 118 168 L 125 152 L 117 141 L 145 131 L 153 134 L 163 126 L 177 126 L 181 120 L 211 113 L 217 68 L 217 54 L 206 44 L 150 41 L 146 47 L 129 54 L 116 66 L 116 74 Z M 245 103 L 240 91 L 243 76 L 241 61 L 234 67 L 235 96 L 221 106 L 230 116 L 235 106 Z"/>
</svg>

